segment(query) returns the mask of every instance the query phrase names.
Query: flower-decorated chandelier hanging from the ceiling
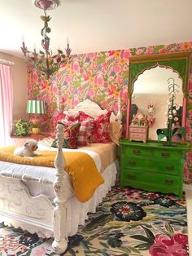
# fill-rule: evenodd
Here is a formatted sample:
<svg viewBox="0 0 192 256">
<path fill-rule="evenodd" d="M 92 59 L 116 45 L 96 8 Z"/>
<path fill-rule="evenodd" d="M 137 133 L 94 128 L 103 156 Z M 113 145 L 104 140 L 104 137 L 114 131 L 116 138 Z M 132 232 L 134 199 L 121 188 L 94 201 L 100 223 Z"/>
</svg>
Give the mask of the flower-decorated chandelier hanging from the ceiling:
<svg viewBox="0 0 192 256">
<path fill-rule="evenodd" d="M 37 74 L 40 76 L 46 75 L 46 78 L 49 79 L 56 71 L 58 71 L 61 64 L 66 64 L 68 62 L 72 50 L 69 47 L 69 42 L 67 42 L 65 55 L 61 50 L 58 50 L 56 55 L 52 55 L 52 51 L 50 50 L 50 38 L 48 33 L 51 31 L 49 27 L 51 18 L 50 15 L 46 15 L 46 10 L 55 9 L 58 7 L 58 2 L 55 0 L 34 0 L 33 2 L 36 7 L 41 8 L 44 11 L 44 15 L 41 15 L 41 20 L 44 23 L 44 27 L 41 29 L 41 46 L 44 50 L 39 51 L 39 53 L 37 53 L 36 49 L 28 51 L 24 41 L 20 48 L 23 51 L 28 64 L 37 70 Z"/>
</svg>

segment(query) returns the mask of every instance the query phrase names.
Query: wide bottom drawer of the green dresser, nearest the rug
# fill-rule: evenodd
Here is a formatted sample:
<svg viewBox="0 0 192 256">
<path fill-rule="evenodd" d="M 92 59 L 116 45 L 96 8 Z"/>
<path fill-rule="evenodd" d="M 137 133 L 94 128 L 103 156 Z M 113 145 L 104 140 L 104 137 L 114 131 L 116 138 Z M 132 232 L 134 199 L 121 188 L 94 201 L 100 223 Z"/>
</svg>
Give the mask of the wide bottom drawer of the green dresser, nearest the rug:
<svg viewBox="0 0 192 256">
<path fill-rule="evenodd" d="M 178 195 L 180 193 L 180 179 L 179 176 L 123 170 L 120 176 L 120 186 L 129 185 L 133 188 L 142 188 L 153 192 L 173 192 Z"/>
</svg>

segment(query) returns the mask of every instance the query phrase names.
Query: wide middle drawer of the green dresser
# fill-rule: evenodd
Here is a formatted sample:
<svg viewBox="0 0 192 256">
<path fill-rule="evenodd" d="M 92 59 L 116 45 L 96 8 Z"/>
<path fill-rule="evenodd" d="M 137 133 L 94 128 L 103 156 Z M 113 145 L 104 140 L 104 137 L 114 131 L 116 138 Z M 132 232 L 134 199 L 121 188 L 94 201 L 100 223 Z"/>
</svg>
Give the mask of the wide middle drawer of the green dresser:
<svg viewBox="0 0 192 256">
<path fill-rule="evenodd" d="M 121 166 L 129 170 L 149 170 L 151 173 L 177 175 L 181 170 L 181 161 L 160 161 L 151 158 L 122 157 Z"/>
</svg>

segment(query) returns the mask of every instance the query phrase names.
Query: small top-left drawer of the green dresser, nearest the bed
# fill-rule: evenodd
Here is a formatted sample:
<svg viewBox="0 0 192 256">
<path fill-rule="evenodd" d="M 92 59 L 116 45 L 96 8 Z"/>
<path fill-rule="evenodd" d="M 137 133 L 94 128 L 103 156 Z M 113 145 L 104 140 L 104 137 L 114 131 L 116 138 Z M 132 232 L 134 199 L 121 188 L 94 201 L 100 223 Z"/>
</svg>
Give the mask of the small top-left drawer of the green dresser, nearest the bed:
<svg viewBox="0 0 192 256">
<path fill-rule="evenodd" d="M 123 156 L 138 156 L 138 157 L 149 157 L 149 148 L 139 148 L 139 147 L 121 147 L 121 152 Z"/>
</svg>

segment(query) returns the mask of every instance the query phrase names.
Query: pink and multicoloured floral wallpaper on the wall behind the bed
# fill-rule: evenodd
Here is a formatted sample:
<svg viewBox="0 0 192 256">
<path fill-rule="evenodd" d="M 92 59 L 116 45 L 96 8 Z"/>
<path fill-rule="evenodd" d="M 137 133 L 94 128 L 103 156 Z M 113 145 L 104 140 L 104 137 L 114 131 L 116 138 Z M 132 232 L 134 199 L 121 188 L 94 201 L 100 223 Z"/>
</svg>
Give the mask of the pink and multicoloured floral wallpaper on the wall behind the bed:
<svg viewBox="0 0 192 256">
<path fill-rule="evenodd" d="M 49 81 L 46 77 L 38 77 L 37 72 L 28 66 L 28 98 L 46 101 L 46 130 L 53 129 L 55 111 L 73 108 L 84 99 L 94 100 L 102 108 L 117 113 L 120 96 L 125 119 L 129 57 L 181 51 L 192 51 L 192 42 L 72 55 L 68 64 L 63 64 Z M 188 88 L 186 140 L 192 143 L 192 60 Z M 192 152 L 188 155 L 185 182 L 192 183 Z"/>
</svg>

